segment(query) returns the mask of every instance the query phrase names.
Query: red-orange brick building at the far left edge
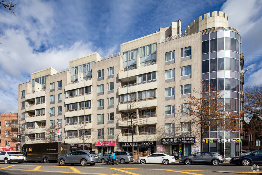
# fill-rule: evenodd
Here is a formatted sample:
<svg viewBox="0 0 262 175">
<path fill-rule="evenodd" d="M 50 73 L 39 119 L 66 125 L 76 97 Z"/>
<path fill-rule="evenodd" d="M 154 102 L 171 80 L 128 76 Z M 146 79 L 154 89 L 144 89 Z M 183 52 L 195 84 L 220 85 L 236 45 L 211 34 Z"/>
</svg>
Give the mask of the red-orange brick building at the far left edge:
<svg viewBox="0 0 262 175">
<path fill-rule="evenodd" d="M 4 113 L 0 116 L 0 152 L 18 151 L 18 114 Z"/>
</svg>

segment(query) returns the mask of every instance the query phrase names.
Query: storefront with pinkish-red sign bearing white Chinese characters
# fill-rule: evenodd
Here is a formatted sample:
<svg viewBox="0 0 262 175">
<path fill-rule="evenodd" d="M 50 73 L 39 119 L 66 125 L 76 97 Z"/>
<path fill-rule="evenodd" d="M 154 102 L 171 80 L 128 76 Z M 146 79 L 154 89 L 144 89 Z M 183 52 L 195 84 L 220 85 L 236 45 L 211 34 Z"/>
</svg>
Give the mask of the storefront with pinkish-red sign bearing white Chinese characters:
<svg viewBox="0 0 262 175">
<path fill-rule="evenodd" d="M 97 146 L 98 157 L 101 157 L 115 151 L 116 141 L 99 141 L 95 142 L 95 146 Z"/>
</svg>

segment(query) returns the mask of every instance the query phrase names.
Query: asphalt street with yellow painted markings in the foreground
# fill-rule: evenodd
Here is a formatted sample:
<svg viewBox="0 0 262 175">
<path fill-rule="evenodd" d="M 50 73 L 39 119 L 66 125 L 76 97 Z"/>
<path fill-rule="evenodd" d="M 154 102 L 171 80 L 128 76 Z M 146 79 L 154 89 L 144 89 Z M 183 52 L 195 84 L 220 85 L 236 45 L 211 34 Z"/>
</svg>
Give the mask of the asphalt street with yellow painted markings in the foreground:
<svg viewBox="0 0 262 175">
<path fill-rule="evenodd" d="M 235 166 L 225 162 L 222 165 L 213 166 L 207 164 L 184 165 L 184 164 L 138 164 L 126 163 L 119 165 L 105 165 L 96 163 L 94 166 L 87 165 L 82 167 L 80 164 L 60 166 L 58 163 L 41 163 L 41 162 L 23 162 L 22 164 L 10 163 L 5 165 L 0 163 L 1 175 L 31 175 L 31 174 L 90 174 L 90 175 L 143 175 L 143 174 L 194 174 L 194 175 L 209 175 L 209 174 L 262 174 L 262 169 L 259 168 L 258 173 L 253 173 L 252 166 Z"/>
</svg>

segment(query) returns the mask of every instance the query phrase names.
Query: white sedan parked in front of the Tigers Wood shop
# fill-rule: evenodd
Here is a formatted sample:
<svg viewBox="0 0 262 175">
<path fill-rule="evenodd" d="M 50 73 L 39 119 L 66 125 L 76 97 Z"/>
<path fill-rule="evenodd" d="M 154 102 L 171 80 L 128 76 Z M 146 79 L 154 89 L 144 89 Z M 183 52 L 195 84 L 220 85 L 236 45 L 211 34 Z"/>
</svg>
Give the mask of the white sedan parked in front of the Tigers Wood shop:
<svg viewBox="0 0 262 175">
<path fill-rule="evenodd" d="M 150 154 L 146 157 L 139 157 L 136 160 L 138 163 L 145 164 L 145 163 L 163 163 L 165 165 L 168 165 L 169 163 L 175 163 L 175 157 L 170 156 L 167 154 L 160 154 L 160 153 L 154 153 Z"/>
</svg>

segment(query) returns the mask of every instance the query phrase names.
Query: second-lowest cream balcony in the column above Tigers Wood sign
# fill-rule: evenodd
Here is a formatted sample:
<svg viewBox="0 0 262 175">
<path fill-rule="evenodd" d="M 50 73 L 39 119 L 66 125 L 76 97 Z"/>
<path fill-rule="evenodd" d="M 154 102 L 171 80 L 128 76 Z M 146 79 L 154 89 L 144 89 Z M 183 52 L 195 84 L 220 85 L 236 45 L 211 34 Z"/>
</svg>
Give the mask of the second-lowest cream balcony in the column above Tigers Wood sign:
<svg viewBox="0 0 262 175">
<path fill-rule="evenodd" d="M 132 118 L 132 123 L 135 125 L 156 124 L 157 115 L 143 115 Z M 131 126 L 131 119 L 129 117 L 118 120 L 118 126 Z"/>
</svg>

